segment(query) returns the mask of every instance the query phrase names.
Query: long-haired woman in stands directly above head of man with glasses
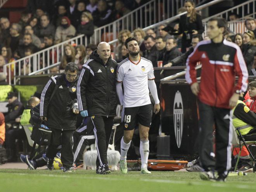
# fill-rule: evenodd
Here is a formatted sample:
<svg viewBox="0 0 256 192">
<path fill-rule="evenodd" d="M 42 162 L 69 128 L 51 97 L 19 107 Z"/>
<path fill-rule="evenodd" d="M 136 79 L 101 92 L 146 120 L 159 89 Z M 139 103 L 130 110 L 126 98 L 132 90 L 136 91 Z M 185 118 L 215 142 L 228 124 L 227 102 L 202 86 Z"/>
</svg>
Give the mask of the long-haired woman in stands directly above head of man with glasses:
<svg viewBox="0 0 256 192">
<path fill-rule="evenodd" d="M 74 62 L 75 60 L 75 50 L 70 44 L 64 46 L 64 55 L 61 58 L 60 70 L 64 70 L 67 63 Z M 60 71 L 61 72 L 61 71 Z"/>
</svg>

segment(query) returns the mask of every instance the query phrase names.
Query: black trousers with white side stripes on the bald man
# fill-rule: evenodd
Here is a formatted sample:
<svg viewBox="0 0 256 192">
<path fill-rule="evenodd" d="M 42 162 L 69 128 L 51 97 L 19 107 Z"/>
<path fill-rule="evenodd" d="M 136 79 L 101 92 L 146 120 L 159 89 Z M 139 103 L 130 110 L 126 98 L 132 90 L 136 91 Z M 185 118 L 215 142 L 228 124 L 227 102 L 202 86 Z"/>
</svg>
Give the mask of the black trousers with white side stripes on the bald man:
<svg viewBox="0 0 256 192">
<path fill-rule="evenodd" d="M 87 127 L 93 127 L 98 154 L 96 166 L 98 167 L 108 164 L 107 147 L 109 145 L 114 117 L 92 116 L 91 119 L 92 121 L 87 123 Z"/>
</svg>

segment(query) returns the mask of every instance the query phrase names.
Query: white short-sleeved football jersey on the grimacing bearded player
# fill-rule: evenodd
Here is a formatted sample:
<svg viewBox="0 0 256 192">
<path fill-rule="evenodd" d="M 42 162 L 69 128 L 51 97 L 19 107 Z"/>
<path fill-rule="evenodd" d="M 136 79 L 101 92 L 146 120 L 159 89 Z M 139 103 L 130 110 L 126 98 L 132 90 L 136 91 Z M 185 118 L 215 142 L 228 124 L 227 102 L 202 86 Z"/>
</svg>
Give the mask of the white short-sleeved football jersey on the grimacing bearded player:
<svg viewBox="0 0 256 192">
<path fill-rule="evenodd" d="M 138 107 L 151 104 L 148 80 L 154 80 L 152 62 L 140 57 L 137 63 L 129 58 L 120 62 L 117 67 L 117 81 L 123 82 L 123 107 Z"/>
</svg>

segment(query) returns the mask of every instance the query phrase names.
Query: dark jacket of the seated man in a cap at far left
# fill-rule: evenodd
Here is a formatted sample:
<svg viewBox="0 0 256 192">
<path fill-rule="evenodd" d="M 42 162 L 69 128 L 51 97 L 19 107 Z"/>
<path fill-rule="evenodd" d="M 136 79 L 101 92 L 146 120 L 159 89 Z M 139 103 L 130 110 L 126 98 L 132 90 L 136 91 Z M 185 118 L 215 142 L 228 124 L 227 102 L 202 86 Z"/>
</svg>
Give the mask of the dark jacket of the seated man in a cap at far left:
<svg viewBox="0 0 256 192">
<path fill-rule="evenodd" d="M 12 123 L 15 122 L 15 119 L 22 115 L 24 110 L 24 106 L 18 99 L 14 100 L 12 103 L 7 104 L 8 112 L 5 115 L 5 123 Z"/>
</svg>

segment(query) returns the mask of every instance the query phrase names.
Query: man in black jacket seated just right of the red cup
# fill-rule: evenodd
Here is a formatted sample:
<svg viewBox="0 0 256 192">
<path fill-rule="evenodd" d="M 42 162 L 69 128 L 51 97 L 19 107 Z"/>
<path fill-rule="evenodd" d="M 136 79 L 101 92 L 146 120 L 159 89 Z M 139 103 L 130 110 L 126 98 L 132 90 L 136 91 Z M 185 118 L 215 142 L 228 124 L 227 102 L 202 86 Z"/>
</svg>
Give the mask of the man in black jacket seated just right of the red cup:
<svg viewBox="0 0 256 192">
<path fill-rule="evenodd" d="M 168 64 L 168 67 L 171 67 L 171 61 L 181 54 L 182 53 L 177 48 L 176 40 L 174 38 L 169 38 L 166 41 L 166 52 L 163 56 L 163 66 Z"/>
</svg>

